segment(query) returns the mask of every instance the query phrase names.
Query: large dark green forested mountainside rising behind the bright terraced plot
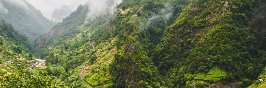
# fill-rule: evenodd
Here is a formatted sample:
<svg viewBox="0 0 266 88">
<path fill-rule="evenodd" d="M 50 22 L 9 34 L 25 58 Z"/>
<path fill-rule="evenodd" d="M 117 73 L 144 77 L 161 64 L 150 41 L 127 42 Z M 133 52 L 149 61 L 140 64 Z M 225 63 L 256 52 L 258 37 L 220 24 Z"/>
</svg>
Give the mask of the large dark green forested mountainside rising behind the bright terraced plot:
<svg viewBox="0 0 266 88">
<path fill-rule="evenodd" d="M 255 79 L 265 66 L 264 44 L 259 43 L 263 41 L 257 40 L 259 36 L 251 26 L 257 25 L 252 19 L 261 9 L 260 0 L 193 1 L 174 24 L 166 27 L 166 37 L 151 58 L 161 74 L 175 80 L 171 84 L 178 83 L 177 87 L 212 67 L 227 73 L 218 81 L 225 84 Z M 182 80 L 186 74 L 193 77 Z"/>
</svg>

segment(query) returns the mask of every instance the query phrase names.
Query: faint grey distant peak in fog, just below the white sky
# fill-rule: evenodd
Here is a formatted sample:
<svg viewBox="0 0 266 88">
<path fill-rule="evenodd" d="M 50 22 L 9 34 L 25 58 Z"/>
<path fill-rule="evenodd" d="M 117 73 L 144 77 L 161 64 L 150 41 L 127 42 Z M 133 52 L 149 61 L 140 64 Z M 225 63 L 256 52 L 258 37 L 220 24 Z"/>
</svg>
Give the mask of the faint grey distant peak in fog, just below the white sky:
<svg viewBox="0 0 266 88">
<path fill-rule="evenodd" d="M 66 18 L 69 16 L 69 14 L 72 12 L 71 7 L 64 5 L 59 9 L 55 9 L 52 13 L 51 18 L 56 22 L 61 22 L 63 18 Z"/>
</svg>

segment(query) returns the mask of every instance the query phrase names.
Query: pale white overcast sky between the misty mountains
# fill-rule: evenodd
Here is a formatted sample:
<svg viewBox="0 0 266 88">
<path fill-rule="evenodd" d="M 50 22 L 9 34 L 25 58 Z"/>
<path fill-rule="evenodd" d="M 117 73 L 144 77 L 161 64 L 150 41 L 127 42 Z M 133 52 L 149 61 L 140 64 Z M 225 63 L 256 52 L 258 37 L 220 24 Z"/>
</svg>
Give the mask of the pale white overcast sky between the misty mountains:
<svg viewBox="0 0 266 88">
<path fill-rule="evenodd" d="M 60 8 L 63 5 L 67 5 L 73 8 L 71 12 L 77 9 L 79 4 L 85 4 L 87 0 L 26 0 L 32 4 L 36 9 L 40 10 L 48 19 L 51 19 L 51 15 L 56 8 Z"/>
</svg>

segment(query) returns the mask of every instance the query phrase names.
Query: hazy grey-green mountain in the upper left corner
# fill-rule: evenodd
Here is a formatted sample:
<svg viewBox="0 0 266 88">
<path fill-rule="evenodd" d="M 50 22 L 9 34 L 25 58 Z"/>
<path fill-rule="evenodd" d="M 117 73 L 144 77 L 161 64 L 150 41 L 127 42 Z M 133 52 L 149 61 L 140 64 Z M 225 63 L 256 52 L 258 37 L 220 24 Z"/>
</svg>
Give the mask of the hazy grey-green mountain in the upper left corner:
<svg viewBox="0 0 266 88">
<path fill-rule="evenodd" d="M 0 7 L 0 19 L 12 24 L 18 32 L 26 34 L 32 46 L 36 37 L 55 25 L 25 0 L 1 0 Z"/>
</svg>

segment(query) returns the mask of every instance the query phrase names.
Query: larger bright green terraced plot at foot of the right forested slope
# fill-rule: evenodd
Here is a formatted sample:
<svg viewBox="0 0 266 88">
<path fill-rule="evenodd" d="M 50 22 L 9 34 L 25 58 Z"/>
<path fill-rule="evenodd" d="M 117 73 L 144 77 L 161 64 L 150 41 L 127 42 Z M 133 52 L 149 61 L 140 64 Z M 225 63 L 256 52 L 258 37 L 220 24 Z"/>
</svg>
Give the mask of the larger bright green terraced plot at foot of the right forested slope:
<svg viewBox="0 0 266 88">
<path fill-rule="evenodd" d="M 208 81 L 219 81 L 222 77 L 226 76 L 226 72 L 223 70 L 220 70 L 218 68 L 212 68 L 210 72 L 208 72 L 207 76 L 204 78 L 204 80 Z"/>
</svg>

